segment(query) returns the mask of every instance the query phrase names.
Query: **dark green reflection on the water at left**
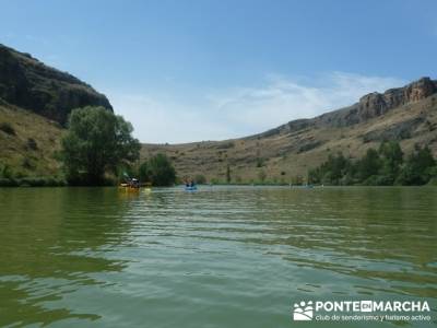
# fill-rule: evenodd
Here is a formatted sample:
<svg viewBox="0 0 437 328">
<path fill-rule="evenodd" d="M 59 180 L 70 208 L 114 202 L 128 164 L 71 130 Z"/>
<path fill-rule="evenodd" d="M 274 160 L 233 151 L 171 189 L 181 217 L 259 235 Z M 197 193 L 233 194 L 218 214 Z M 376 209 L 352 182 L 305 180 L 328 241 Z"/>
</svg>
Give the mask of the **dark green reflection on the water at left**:
<svg viewBox="0 0 437 328">
<path fill-rule="evenodd" d="M 43 304 L 105 284 L 94 273 L 122 270 L 122 260 L 101 256 L 130 229 L 117 197 L 104 188 L 0 190 L 0 326 L 99 317 Z"/>
</svg>

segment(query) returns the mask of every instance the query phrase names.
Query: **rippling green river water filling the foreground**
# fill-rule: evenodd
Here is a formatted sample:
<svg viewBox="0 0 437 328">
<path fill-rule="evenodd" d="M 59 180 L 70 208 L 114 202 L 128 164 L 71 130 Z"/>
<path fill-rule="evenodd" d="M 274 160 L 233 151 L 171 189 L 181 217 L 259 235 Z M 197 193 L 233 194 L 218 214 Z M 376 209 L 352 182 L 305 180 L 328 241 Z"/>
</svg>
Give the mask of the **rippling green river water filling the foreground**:
<svg viewBox="0 0 437 328">
<path fill-rule="evenodd" d="M 436 326 L 437 188 L 0 189 L 1 327 L 339 326 L 302 300 L 426 301 L 345 325 Z"/>
</svg>

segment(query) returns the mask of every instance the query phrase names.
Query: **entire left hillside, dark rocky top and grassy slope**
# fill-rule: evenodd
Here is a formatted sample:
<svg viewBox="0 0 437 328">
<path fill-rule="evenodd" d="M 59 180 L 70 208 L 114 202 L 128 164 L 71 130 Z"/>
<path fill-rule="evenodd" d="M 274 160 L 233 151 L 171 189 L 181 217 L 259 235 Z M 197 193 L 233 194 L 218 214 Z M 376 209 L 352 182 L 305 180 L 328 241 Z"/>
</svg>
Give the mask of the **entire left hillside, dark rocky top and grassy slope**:
<svg viewBox="0 0 437 328">
<path fill-rule="evenodd" d="M 0 44 L 0 169 L 14 175 L 60 174 L 55 159 L 70 112 L 113 110 L 105 95 L 73 75 Z"/>
</svg>

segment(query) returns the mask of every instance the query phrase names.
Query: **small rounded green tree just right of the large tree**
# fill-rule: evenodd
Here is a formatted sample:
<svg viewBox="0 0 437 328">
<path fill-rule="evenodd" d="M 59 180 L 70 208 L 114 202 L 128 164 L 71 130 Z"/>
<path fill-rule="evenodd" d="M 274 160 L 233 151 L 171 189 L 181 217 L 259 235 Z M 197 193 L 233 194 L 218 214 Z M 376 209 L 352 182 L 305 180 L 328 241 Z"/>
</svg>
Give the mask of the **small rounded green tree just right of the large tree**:
<svg viewBox="0 0 437 328">
<path fill-rule="evenodd" d="M 150 180 L 154 186 L 172 186 L 176 181 L 176 171 L 165 154 L 156 154 L 147 162 Z"/>
</svg>

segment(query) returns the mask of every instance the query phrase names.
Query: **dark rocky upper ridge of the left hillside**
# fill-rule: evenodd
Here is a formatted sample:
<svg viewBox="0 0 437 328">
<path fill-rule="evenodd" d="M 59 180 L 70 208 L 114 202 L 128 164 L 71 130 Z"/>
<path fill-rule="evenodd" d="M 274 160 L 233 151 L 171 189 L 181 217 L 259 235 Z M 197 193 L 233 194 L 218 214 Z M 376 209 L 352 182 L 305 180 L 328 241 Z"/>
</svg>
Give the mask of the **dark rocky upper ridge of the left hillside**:
<svg viewBox="0 0 437 328">
<path fill-rule="evenodd" d="M 64 125 L 73 108 L 113 110 L 105 95 L 73 75 L 0 44 L 0 98 Z"/>
</svg>

